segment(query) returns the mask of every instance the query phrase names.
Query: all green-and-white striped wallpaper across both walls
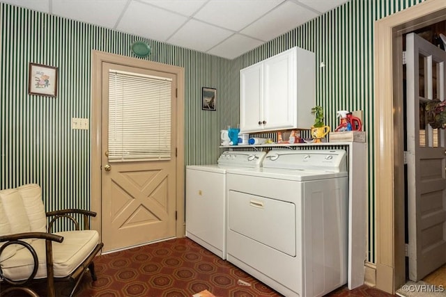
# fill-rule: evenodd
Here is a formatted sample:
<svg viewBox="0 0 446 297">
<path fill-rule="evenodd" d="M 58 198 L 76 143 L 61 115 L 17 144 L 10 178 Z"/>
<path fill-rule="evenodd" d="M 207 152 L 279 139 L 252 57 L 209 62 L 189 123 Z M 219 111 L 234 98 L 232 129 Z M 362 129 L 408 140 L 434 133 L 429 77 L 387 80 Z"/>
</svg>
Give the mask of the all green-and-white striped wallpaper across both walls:
<svg viewBox="0 0 446 297">
<path fill-rule="evenodd" d="M 36 182 L 48 210 L 90 207 L 90 131 L 70 129 L 90 118 L 91 51 L 132 56 L 144 40 L 147 59 L 185 68 L 185 161 L 213 163 L 220 129 L 238 123 L 240 68 L 295 45 L 316 53 L 316 102 L 335 127 L 339 109 L 364 111 L 369 163 L 374 163 L 374 21 L 422 0 L 351 0 L 229 61 L 135 35 L 0 3 L 0 188 Z M 28 65 L 59 67 L 56 98 L 28 95 Z M 320 67 L 321 63 L 325 66 Z M 201 110 L 201 88 L 217 89 L 217 111 Z M 375 261 L 374 168 L 369 168 L 369 262 Z"/>
</svg>

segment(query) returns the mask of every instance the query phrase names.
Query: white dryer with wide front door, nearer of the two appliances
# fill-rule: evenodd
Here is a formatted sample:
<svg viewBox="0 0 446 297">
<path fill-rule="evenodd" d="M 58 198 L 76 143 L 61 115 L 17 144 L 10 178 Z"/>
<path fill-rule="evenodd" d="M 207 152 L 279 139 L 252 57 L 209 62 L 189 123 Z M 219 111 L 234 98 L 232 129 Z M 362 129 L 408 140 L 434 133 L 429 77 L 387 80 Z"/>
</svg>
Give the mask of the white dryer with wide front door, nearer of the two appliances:
<svg viewBox="0 0 446 297">
<path fill-rule="evenodd" d="M 262 168 L 226 175 L 229 262 L 287 297 L 346 284 L 344 150 L 272 150 Z"/>
</svg>

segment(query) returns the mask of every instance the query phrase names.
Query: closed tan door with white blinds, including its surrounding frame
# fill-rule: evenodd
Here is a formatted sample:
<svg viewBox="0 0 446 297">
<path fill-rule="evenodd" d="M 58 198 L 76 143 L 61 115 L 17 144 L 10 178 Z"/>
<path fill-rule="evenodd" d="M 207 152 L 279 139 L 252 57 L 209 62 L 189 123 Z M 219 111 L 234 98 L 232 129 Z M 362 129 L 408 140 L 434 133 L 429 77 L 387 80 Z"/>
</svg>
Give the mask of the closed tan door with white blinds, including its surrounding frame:
<svg viewBox="0 0 446 297">
<path fill-rule="evenodd" d="M 101 241 L 105 239 L 109 241 L 109 248 L 105 249 L 109 252 L 153 243 L 169 237 L 183 237 L 185 235 L 184 69 L 174 65 L 93 51 L 92 72 L 91 209 L 98 214 L 91 222 L 92 228 L 100 232 Z M 113 97 L 109 96 L 109 92 L 115 90 L 115 88 L 109 88 L 112 85 L 109 82 L 112 74 L 120 74 L 123 81 L 131 83 L 144 81 L 144 88 L 148 90 L 144 93 L 146 95 L 143 96 L 142 101 L 139 98 L 141 93 L 130 96 L 135 104 L 152 102 L 152 109 L 166 111 L 166 114 L 167 111 L 170 111 L 169 114 L 174 113 L 174 117 L 169 118 L 168 115 L 158 117 L 161 120 L 169 118 L 168 126 L 171 127 L 170 131 L 175 131 L 175 134 L 162 134 L 162 137 L 166 138 L 163 141 L 168 145 L 162 151 L 162 156 L 157 156 L 157 159 L 154 159 L 151 147 L 147 148 L 148 145 L 141 149 L 137 147 L 137 150 L 128 150 L 123 146 L 124 149 L 118 147 L 116 152 L 123 150 L 125 154 L 119 157 L 119 160 L 125 159 L 125 162 L 112 163 L 114 154 L 111 154 L 110 147 L 107 145 L 110 142 L 108 127 L 111 125 L 109 122 L 111 109 L 107 108 L 109 105 L 107 101 Z M 129 76 L 131 79 L 127 79 Z M 116 79 L 114 85 L 118 81 Z M 157 87 L 160 84 L 164 86 L 166 83 L 167 87 Z M 118 85 L 119 90 L 124 86 L 122 83 Z M 122 87 L 122 89 L 129 94 L 132 92 L 131 88 Z M 167 95 L 164 95 L 170 98 L 168 102 L 167 99 L 164 103 L 160 100 L 165 97 L 161 94 L 161 89 L 167 92 Z M 157 98 L 159 104 L 168 104 L 169 108 L 156 107 L 154 98 Z M 127 98 L 126 102 L 129 100 Z M 122 104 L 119 105 L 118 99 L 114 99 L 112 105 L 121 106 Z M 119 110 L 121 113 L 121 107 Z M 132 119 L 136 118 L 141 125 L 146 127 L 149 119 L 137 118 L 136 115 L 139 116 L 139 113 L 131 113 L 129 116 Z M 150 117 L 150 114 L 147 117 Z M 129 122 L 131 121 L 126 120 L 125 127 L 128 127 Z M 121 130 L 121 128 L 116 128 L 116 131 Z M 129 135 L 134 137 L 134 130 L 130 132 Z M 138 137 L 141 138 L 141 135 L 139 134 Z M 148 137 L 152 137 L 152 134 L 148 134 Z M 135 154 L 141 156 L 143 153 L 144 157 L 138 159 L 134 157 Z M 160 151 L 157 150 L 156 154 L 160 154 Z M 130 169 L 123 166 L 130 166 Z M 123 216 L 119 220 L 115 219 L 121 214 Z M 123 235 L 114 239 L 114 234 L 118 232 L 127 236 L 125 241 Z"/>
</svg>

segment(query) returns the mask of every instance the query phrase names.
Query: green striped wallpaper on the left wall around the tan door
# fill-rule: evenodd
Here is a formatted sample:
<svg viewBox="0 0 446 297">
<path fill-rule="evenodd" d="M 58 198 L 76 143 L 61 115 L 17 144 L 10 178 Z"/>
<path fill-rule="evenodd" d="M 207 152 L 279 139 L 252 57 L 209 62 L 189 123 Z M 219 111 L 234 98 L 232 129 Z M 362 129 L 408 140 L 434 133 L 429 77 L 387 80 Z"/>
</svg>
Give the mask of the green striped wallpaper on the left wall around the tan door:
<svg viewBox="0 0 446 297">
<path fill-rule="evenodd" d="M 132 56 L 137 36 L 0 3 L 0 188 L 40 184 L 47 209 L 90 207 L 91 51 Z M 144 39 L 142 39 L 144 40 Z M 213 163 L 220 129 L 238 113 L 228 95 L 231 61 L 153 40 L 149 60 L 185 68 L 186 163 Z M 56 98 L 28 95 L 28 65 L 59 68 Z M 217 88 L 217 111 L 201 110 L 201 87 Z"/>
</svg>

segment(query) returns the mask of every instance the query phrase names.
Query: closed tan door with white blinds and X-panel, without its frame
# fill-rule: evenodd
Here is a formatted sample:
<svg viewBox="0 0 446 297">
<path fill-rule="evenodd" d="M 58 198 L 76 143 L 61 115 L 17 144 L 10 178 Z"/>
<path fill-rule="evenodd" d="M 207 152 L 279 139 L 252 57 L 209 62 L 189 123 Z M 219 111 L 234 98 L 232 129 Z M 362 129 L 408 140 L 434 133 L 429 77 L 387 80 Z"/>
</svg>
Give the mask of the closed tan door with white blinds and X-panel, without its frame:
<svg viewBox="0 0 446 297">
<path fill-rule="evenodd" d="M 125 96 L 121 108 L 115 108 L 110 94 L 112 90 L 109 76 L 112 72 L 122 72 L 133 76 L 130 79 L 130 88 L 125 87 Z M 148 94 L 158 93 L 157 87 L 152 88 L 152 84 L 146 81 L 139 81 L 137 77 L 150 77 L 157 80 L 171 80 L 170 90 L 167 92 L 168 99 L 162 104 L 168 106 L 165 110 L 170 110 L 167 115 L 170 122 L 169 132 L 163 134 L 165 139 L 155 139 L 158 129 L 147 128 L 147 122 L 157 118 L 157 110 L 149 113 L 141 113 L 144 104 L 156 105 L 156 102 L 146 98 L 156 97 L 155 95 L 141 95 L 143 84 L 144 90 Z M 132 78 L 132 77 L 130 77 Z M 134 88 L 133 88 L 134 86 Z M 156 85 L 157 86 L 157 85 Z M 155 89 L 155 90 L 153 90 Z M 138 90 L 138 91 L 136 91 Z M 104 243 L 103 252 L 119 250 L 138 246 L 151 241 L 167 239 L 176 236 L 176 76 L 167 72 L 154 71 L 143 67 L 130 67 L 114 63 L 102 63 L 102 241 Z M 138 99 L 136 99 L 138 98 Z M 136 104 L 132 113 L 128 113 L 128 104 Z M 112 118 L 112 109 L 117 113 L 128 113 L 129 117 L 136 119 L 137 125 L 132 128 L 122 128 L 126 130 L 126 135 L 136 139 L 132 142 L 132 147 L 124 147 L 121 159 L 112 159 L 109 143 L 112 142 L 112 131 L 109 126 Z M 167 113 L 167 111 L 164 111 Z M 126 115 L 127 116 L 127 115 Z M 164 116 L 166 117 L 166 116 Z M 124 118 L 123 123 L 126 122 Z M 128 118 L 127 118 L 128 119 Z M 128 120 L 127 120 L 128 122 Z M 156 123 L 155 123 L 156 125 Z M 151 125 L 151 127 L 155 127 Z M 150 131 L 149 131 L 150 130 Z M 152 137 L 152 134 L 154 135 Z M 115 136 L 118 137 L 118 136 Z M 127 138 L 129 139 L 129 138 Z M 141 141 L 139 141 L 139 139 Z M 165 141 L 164 152 L 160 155 L 159 150 L 153 152 L 150 143 L 153 141 L 160 143 Z M 122 143 L 125 143 L 123 138 Z M 137 149 L 135 149 L 137 147 Z M 128 157 L 132 154 L 132 157 Z M 158 154 L 159 156 L 153 156 Z"/>
</svg>

